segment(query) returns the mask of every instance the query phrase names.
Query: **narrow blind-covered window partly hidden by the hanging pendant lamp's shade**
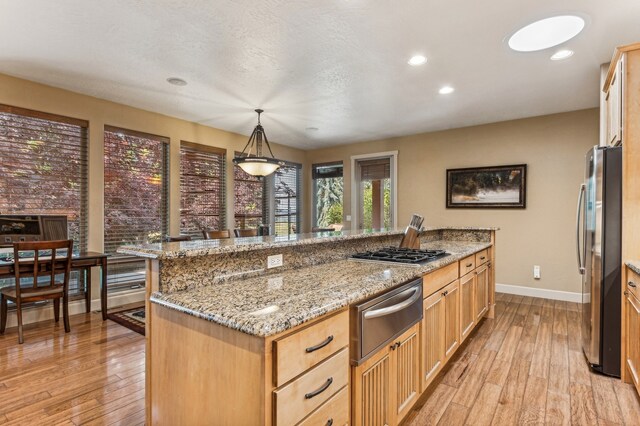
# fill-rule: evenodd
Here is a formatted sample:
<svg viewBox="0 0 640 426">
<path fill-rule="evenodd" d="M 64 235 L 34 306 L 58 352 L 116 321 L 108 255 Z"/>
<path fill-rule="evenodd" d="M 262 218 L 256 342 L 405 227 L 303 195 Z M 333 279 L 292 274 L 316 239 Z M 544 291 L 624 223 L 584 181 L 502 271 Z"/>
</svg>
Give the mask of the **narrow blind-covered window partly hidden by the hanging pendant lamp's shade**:
<svg viewBox="0 0 640 426">
<path fill-rule="evenodd" d="M 240 229 L 257 228 L 266 223 L 265 180 L 251 176 L 238 166 L 233 166 L 233 177 L 234 226 Z"/>
</svg>

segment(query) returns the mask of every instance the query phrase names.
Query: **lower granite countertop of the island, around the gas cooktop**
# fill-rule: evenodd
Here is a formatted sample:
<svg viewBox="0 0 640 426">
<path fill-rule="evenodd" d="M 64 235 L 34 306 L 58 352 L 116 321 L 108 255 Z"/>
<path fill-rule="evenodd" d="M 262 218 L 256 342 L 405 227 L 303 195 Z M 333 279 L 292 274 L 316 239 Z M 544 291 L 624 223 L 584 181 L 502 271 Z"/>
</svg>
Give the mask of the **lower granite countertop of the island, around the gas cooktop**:
<svg viewBox="0 0 640 426">
<path fill-rule="evenodd" d="M 450 256 L 421 266 L 340 260 L 163 294 L 151 302 L 254 336 L 271 336 L 441 268 L 490 243 L 431 241 Z"/>
</svg>

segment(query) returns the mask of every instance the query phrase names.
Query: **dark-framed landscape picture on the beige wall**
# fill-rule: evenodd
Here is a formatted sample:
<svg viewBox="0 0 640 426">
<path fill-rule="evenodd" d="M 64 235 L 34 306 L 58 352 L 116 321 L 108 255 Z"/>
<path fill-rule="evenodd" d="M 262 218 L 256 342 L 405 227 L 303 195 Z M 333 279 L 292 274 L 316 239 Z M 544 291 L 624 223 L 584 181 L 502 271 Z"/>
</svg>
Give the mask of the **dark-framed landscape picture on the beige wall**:
<svg viewBox="0 0 640 426">
<path fill-rule="evenodd" d="M 526 207 L 527 165 L 447 169 L 447 208 Z"/>
</svg>

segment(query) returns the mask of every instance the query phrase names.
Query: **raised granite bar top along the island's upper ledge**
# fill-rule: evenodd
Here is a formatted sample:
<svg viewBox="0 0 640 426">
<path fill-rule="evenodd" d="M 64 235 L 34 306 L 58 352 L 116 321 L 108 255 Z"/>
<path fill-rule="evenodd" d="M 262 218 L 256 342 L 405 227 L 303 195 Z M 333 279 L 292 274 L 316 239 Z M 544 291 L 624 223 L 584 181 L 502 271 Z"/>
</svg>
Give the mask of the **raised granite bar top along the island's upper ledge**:
<svg viewBox="0 0 640 426">
<path fill-rule="evenodd" d="M 478 227 L 435 227 L 425 228 L 424 231 L 439 230 L 473 230 L 473 231 L 497 231 L 498 228 L 478 228 Z M 291 247 L 308 244 L 328 243 L 333 241 L 357 240 L 372 236 L 395 236 L 402 235 L 402 229 L 382 229 L 382 230 L 357 230 L 357 231 L 335 231 L 316 232 L 309 234 L 292 234 L 289 236 L 266 236 L 266 237 L 245 237 L 227 238 L 221 240 L 197 240 L 181 241 L 173 243 L 139 244 L 121 246 L 118 253 L 145 257 L 149 259 L 175 259 L 182 257 L 206 256 L 212 254 L 222 254 L 231 252 L 245 252 L 270 247 Z"/>
</svg>

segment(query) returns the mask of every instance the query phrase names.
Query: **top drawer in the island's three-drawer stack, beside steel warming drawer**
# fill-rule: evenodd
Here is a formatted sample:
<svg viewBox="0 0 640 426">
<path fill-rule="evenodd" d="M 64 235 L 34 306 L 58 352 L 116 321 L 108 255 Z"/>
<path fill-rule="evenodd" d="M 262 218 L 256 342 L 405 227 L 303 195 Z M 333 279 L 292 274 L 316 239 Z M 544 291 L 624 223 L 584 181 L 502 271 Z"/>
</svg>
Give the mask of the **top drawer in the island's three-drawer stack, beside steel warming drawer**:
<svg viewBox="0 0 640 426">
<path fill-rule="evenodd" d="M 349 312 L 344 311 L 273 342 L 274 378 L 282 386 L 349 345 Z"/>
</svg>

